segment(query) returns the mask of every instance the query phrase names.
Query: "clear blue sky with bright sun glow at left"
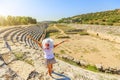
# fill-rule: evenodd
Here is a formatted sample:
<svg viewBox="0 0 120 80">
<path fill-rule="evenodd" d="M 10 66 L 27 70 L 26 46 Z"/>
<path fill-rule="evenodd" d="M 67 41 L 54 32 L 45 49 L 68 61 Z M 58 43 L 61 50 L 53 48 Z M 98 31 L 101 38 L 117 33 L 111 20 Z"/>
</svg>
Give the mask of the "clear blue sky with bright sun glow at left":
<svg viewBox="0 0 120 80">
<path fill-rule="evenodd" d="M 120 8 L 120 0 L 0 0 L 0 15 L 31 16 L 38 21 Z"/>
</svg>

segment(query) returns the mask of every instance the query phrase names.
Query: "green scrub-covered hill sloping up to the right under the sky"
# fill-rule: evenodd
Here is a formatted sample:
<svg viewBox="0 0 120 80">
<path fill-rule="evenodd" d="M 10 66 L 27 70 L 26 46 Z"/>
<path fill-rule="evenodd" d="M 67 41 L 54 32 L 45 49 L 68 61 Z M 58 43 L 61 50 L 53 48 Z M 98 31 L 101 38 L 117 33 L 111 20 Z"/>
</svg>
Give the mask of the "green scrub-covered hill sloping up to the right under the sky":
<svg viewBox="0 0 120 80">
<path fill-rule="evenodd" d="M 76 15 L 58 22 L 120 26 L 120 9 Z"/>
</svg>

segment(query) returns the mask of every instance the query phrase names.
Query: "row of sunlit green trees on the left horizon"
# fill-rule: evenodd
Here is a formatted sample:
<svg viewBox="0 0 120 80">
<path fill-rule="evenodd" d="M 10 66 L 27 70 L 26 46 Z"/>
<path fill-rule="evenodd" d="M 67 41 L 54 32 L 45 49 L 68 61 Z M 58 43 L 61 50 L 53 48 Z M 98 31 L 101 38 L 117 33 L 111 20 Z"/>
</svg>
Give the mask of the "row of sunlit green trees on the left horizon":
<svg viewBox="0 0 120 80">
<path fill-rule="evenodd" d="M 0 26 L 36 24 L 37 20 L 25 16 L 0 16 Z"/>
</svg>

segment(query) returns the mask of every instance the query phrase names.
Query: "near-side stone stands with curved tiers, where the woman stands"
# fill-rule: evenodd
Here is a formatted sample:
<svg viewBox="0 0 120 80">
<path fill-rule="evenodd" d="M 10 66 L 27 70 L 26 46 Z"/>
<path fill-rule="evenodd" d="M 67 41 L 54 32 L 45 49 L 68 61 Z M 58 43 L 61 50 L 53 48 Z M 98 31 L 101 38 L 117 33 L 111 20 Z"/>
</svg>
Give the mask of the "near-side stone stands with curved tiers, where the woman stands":
<svg viewBox="0 0 120 80">
<path fill-rule="evenodd" d="M 46 74 L 40 41 L 46 25 L 0 28 L 0 80 L 120 80 L 120 76 L 91 72 L 57 59 L 53 78 Z"/>
</svg>

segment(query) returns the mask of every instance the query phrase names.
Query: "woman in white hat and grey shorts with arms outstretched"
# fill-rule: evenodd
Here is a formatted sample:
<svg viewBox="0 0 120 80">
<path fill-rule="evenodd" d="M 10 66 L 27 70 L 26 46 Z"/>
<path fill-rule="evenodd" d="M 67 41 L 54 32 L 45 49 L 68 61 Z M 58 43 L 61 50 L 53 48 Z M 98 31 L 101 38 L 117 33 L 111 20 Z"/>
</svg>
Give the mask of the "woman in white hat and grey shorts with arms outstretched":
<svg viewBox="0 0 120 80">
<path fill-rule="evenodd" d="M 47 65 L 48 68 L 48 73 L 52 77 L 52 69 L 53 69 L 53 64 L 56 63 L 56 60 L 54 58 L 53 54 L 53 48 L 57 47 L 58 45 L 62 44 L 63 42 L 66 42 L 68 40 L 62 41 L 56 45 L 53 44 L 53 40 L 51 38 L 46 38 L 40 43 L 39 41 L 33 39 L 31 36 L 29 36 L 34 42 L 36 42 L 44 52 L 44 58 L 45 58 L 45 64 Z"/>
</svg>

